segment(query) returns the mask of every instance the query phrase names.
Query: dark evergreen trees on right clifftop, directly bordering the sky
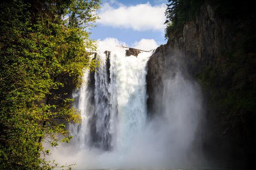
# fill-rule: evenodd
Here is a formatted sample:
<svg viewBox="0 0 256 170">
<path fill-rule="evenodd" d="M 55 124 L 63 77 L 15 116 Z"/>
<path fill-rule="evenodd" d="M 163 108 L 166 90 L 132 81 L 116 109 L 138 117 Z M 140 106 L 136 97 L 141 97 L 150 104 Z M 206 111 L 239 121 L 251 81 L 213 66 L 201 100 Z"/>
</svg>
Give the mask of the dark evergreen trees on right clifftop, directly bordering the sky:
<svg viewBox="0 0 256 170">
<path fill-rule="evenodd" d="M 168 39 L 169 34 L 176 34 L 177 31 L 181 31 L 186 22 L 195 20 L 203 2 L 204 0 L 168 0 L 165 12 L 166 39 Z"/>
</svg>

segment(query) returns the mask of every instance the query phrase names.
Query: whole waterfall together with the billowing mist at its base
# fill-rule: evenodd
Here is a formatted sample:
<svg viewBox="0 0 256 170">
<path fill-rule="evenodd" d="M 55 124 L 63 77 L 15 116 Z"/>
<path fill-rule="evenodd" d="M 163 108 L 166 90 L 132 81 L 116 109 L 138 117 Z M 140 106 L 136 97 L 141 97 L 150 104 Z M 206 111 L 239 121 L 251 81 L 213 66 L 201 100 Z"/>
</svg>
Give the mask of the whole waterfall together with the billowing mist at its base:
<svg viewBox="0 0 256 170">
<path fill-rule="evenodd" d="M 70 125 L 68 144 L 52 157 L 74 169 L 175 168 L 198 166 L 195 144 L 201 112 L 196 83 L 178 70 L 164 80 L 159 106 L 162 113 L 147 113 L 147 61 L 124 50 L 99 53 L 99 68 L 84 74 L 84 85 L 73 94 L 81 111 L 81 125 Z M 197 149 L 195 149 L 197 148 Z"/>
</svg>

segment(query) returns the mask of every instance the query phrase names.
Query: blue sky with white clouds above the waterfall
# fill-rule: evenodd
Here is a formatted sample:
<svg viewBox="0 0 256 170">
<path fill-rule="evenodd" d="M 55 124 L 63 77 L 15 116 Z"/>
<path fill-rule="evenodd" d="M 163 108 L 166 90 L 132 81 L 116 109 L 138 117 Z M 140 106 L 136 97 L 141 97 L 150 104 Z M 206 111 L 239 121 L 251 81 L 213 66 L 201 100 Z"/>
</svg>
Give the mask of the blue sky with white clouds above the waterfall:
<svg viewBox="0 0 256 170">
<path fill-rule="evenodd" d="M 165 44 L 167 0 L 102 0 L 97 11 L 101 18 L 91 29 L 90 38 L 142 50 Z M 107 50 L 107 49 L 104 49 Z"/>
</svg>

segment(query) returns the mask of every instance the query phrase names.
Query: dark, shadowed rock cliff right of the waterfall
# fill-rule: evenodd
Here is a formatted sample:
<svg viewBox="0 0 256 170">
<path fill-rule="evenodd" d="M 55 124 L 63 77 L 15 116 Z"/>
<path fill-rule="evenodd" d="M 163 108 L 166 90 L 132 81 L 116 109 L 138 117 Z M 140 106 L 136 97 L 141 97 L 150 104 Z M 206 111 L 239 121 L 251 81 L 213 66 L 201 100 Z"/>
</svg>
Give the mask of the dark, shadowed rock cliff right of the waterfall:
<svg viewBox="0 0 256 170">
<path fill-rule="evenodd" d="M 255 17 L 219 16 L 205 1 L 195 20 L 169 33 L 147 63 L 147 107 L 161 113 L 163 81 L 170 69 L 194 77 L 204 94 L 202 153 L 213 165 L 253 167 L 256 152 Z M 182 64 L 181 64 L 182 63 Z M 173 65 L 176 65 L 173 68 Z M 254 78 L 253 78 L 254 77 Z"/>
</svg>

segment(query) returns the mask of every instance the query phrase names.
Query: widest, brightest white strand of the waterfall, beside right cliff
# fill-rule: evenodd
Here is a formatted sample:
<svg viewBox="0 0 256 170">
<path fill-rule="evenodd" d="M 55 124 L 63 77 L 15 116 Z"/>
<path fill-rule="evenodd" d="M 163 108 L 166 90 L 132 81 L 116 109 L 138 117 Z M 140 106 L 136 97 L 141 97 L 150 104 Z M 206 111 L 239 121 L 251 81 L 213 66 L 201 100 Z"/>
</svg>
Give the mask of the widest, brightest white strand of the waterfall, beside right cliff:
<svg viewBox="0 0 256 170">
<path fill-rule="evenodd" d="M 146 121 L 146 62 L 149 53 L 125 57 L 116 52 L 110 58 L 111 105 L 117 113 L 112 119 L 114 145 L 117 149 L 129 146 L 132 137 L 144 127 Z M 112 115 L 114 118 L 114 115 Z"/>
</svg>

